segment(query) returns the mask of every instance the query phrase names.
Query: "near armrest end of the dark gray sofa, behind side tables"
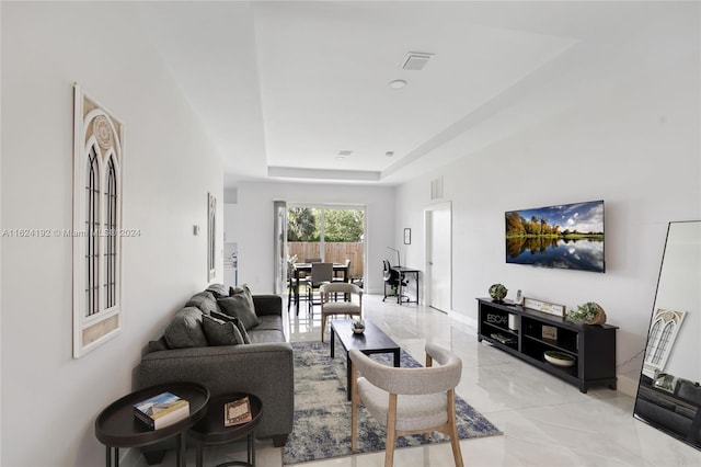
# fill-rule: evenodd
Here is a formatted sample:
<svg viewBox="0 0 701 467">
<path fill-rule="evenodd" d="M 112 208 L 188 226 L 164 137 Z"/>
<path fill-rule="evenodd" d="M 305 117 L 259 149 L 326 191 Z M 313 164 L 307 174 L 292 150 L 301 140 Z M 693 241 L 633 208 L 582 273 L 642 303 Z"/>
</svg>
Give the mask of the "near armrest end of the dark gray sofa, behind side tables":
<svg viewBox="0 0 701 467">
<path fill-rule="evenodd" d="M 263 419 L 255 430 L 258 438 L 280 437 L 292 431 L 294 362 L 292 346 L 287 342 L 151 352 L 136 368 L 134 385 L 139 389 L 180 380 L 199 383 L 212 396 L 257 396 L 263 402 Z"/>
</svg>

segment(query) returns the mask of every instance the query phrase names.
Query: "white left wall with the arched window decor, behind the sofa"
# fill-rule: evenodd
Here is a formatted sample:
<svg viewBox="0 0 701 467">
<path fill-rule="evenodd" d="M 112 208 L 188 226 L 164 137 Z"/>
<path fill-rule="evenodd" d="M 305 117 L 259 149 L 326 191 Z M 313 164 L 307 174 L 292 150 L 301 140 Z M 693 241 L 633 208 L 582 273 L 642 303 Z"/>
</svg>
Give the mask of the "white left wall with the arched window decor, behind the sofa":
<svg viewBox="0 0 701 467">
<path fill-rule="evenodd" d="M 1 8 L 2 228 L 71 227 L 76 81 L 126 125 L 124 226 L 141 235 L 124 239 L 123 331 L 79 360 L 71 240 L 2 238 L 0 464 L 104 465 L 95 417 L 130 391 L 142 348 L 206 287 L 207 192 L 223 205 L 222 166 L 128 4 Z"/>
</svg>

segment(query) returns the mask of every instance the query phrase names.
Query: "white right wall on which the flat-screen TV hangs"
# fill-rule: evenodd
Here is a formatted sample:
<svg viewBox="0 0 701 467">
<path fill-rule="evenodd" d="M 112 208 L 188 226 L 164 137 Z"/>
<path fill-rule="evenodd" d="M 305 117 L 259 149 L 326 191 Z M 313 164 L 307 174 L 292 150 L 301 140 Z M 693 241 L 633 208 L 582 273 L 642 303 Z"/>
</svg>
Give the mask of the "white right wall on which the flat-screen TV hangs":
<svg viewBox="0 0 701 467">
<path fill-rule="evenodd" d="M 474 298 L 497 282 L 509 298 L 520 288 L 568 307 L 597 301 L 620 327 L 625 362 L 643 349 L 667 223 L 701 217 L 699 79 L 691 57 L 400 186 L 407 263 L 424 262 L 422 209 L 443 175 L 453 209 L 452 310 L 475 319 Z M 606 203 L 605 274 L 505 263 L 506 210 L 594 200 Z M 641 361 L 619 373 L 636 375 Z"/>
</svg>

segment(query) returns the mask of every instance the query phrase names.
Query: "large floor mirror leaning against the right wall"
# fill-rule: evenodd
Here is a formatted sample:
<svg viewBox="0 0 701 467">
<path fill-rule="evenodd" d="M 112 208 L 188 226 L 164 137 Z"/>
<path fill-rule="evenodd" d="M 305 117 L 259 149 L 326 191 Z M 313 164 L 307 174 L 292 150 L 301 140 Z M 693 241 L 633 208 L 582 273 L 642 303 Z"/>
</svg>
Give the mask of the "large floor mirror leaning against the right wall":
<svg viewBox="0 0 701 467">
<path fill-rule="evenodd" d="M 669 223 L 635 418 L 701 449 L 701 221 Z"/>
</svg>

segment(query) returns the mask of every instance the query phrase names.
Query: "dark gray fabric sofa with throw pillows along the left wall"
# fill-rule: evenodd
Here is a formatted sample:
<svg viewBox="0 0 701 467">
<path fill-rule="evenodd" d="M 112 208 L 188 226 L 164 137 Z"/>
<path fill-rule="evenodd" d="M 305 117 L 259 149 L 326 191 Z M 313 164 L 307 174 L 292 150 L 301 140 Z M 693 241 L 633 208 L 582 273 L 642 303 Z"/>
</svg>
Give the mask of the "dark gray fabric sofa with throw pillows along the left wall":
<svg viewBox="0 0 701 467">
<path fill-rule="evenodd" d="M 255 436 L 273 438 L 275 446 L 281 446 L 292 430 L 295 413 L 292 346 L 284 333 L 283 300 L 277 295 L 251 296 L 249 292 L 255 315 L 239 319 L 237 332 L 232 330 L 234 327 L 222 324 L 226 316 L 235 316 L 235 308 L 246 303 L 245 294 L 230 295 L 233 292 L 233 287 L 227 289 L 215 284 L 194 295 L 175 314 L 164 334 L 149 343 L 135 371 L 134 386 L 139 389 L 194 381 L 206 386 L 212 396 L 254 394 L 263 402 L 263 419 Z M 211 326 L 235 333 L 232 343 L 214 334 Z M 249 343 L 233 343 L 242 338 Z M 147 462 L 154 464 L 162 459 L 164 447 L 171 446 L 146 446 L 141 451 Z"/>
</svg>

